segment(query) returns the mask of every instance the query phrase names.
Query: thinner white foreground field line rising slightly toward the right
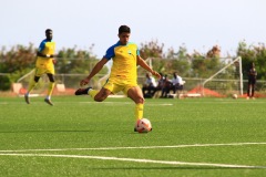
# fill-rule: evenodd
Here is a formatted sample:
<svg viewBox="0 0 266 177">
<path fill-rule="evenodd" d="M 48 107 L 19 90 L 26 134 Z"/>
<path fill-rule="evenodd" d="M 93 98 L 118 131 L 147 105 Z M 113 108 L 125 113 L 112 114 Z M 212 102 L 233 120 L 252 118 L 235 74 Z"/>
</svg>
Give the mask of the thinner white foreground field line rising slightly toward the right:
<svg viewBox="0 0 266 177">
<path fill-rule="evenodd" d="M 55 149 L 18 149 L 18 150 L 0 150 L 0 153 L 152 149 L 152 148 L 185 148 L 185 147 L 247 146 L 247 145 L 266 145 L 266 142 L 262 142 L 262 143 L 228 143 L 228 144 L 194 144 L 194 145 L 174 145 L 174 146 L 141 146 L 141 147 L 92 147 L 92 148 L 55 148 Z"/>
</svg>

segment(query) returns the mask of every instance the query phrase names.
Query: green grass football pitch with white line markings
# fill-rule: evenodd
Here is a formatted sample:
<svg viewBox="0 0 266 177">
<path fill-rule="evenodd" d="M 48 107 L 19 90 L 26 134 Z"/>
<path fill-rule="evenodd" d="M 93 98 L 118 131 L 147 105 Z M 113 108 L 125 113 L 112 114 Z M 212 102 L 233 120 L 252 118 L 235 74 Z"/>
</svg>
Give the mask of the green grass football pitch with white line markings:
<svg viewBox="0 0 266 177">
<path fill-rule="evenodd" d="M 266 174 L 266 100 L 0 98 L 0 176 L 243 177 Z"/>
</svg>

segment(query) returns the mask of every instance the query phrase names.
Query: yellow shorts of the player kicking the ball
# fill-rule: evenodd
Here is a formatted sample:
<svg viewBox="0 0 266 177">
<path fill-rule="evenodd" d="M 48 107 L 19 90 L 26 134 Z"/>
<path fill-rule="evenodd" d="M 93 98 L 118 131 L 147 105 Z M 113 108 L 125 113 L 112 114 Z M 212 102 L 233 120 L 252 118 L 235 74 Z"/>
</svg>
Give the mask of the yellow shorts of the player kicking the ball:
<svg viewBox="0 0 266 177">
<path fill-rule="evenodd" d="M 113 94 L 119 93 L 122 91 L 127 96 L 127 91 L 134 86 L 137 86 L 136 83 L 114 83 L 112 81 L 106 81 L 106 83 L 103 85 L 104 88 L 111 91 Z"/>
</svg>

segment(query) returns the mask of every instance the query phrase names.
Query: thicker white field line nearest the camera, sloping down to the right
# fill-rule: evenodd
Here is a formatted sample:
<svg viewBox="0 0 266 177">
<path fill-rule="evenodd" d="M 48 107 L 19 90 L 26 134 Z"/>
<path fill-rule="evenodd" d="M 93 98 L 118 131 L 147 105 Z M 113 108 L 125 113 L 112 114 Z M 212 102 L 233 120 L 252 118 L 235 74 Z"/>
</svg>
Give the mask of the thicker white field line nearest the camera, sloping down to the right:
<svg viewBox="0 0 266 177">
<path fill-rule="evenodd" d="M 134 162 L 134 163 L 150 163 L 150 164 L 166 164 L 166 165 L 209 166 L 209 167 L 224 167 L 224 168 L 265 168 L 266 169 L 266 166 L 211 164 L 211 163 L 187 163 L 187 162 L 168 162 L 168 160 L 153 160 L 153 159 L 139 159 L 139 158 L 120 158 L 120 157 L 104 157 L 104 156 L 53 155 L 53 154 L 0 154 L 0 156 L 88 158 L 88 159 Z"/>
</svg>

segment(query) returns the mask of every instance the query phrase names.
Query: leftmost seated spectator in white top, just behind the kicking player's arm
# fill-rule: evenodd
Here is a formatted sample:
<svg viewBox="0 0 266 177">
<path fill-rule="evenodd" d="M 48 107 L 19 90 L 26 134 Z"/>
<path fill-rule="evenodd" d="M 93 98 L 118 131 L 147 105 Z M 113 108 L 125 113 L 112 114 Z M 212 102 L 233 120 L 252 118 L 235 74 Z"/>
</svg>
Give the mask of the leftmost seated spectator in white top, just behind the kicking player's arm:
<svg viewBox="0 0 266 177">
<path fill-rule="evenodd" d="M 153 97 L 156 92 L 156 82 L 155 79 L 151 75 L 151 73 L 146 73 L 146 81 L 143 84 L 142 93 L 144 97 Z"/>
</svg>

